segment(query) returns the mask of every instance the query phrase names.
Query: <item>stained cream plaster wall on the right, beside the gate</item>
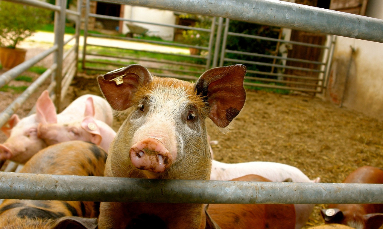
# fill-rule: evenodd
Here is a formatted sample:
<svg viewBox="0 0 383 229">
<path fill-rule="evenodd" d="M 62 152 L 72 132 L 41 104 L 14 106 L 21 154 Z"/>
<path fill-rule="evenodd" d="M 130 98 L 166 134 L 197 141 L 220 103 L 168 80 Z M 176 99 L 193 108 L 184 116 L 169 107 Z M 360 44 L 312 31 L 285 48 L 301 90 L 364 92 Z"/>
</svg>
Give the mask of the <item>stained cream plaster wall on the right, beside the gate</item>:
<svg viewBox="0 0 383 229">
<path fill-rule="evenodd" d="M 383 19 L 383 1 L 369 0 L 366 16 Z M 326 96 L 383 120 L 383 44 L 337 37 Z"/>
</svg>

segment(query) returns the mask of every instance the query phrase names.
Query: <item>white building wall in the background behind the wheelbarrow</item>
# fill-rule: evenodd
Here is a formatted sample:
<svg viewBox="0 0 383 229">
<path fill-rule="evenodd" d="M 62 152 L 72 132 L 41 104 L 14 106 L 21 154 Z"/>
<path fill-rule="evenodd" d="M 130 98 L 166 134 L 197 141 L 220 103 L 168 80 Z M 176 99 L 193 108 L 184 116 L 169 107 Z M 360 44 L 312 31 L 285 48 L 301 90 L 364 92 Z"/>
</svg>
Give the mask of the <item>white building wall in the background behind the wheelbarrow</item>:
<svg viewBox="0 0 383 229">
<path fill-rule="evenodd" d="M 133 19 L 137 21 L 147 21 L 152 23 L 161 23 L 161 24 L 175 24 L 176 17 L 173 11 L 169 10 L 157 10 L 153 8 L 146 8 L 141 6 L 124 6 L 124 18 Z M 147 35 L 159 36 L 164 40 L 173 40 L 174 37 L 174 28 L 173 27 L 164 27 L 164 26 L 155 26 L 149 24 L 133 23 L 139 26 L 149 29 Z M 123 26 L 123 33 L 129 32 L 128 27 Z"/>
</svg>

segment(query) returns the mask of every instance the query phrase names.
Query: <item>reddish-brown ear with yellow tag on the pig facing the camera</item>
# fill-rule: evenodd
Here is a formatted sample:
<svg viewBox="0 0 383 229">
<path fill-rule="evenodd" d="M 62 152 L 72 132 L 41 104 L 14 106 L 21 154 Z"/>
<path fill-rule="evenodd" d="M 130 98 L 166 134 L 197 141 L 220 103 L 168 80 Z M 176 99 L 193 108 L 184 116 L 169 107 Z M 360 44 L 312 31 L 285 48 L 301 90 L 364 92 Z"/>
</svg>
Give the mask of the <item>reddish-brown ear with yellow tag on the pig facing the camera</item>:
<svg viewBox="0 0 383 229">
<path fill-rule="evenodd" d="M 129 65 L 98 76 L 98 85 L 110 106 L 124 111 L 132 106 L 132 97 L 139 87 L 152 81 L 152 75 L 141 65 Z"/>
</svg>

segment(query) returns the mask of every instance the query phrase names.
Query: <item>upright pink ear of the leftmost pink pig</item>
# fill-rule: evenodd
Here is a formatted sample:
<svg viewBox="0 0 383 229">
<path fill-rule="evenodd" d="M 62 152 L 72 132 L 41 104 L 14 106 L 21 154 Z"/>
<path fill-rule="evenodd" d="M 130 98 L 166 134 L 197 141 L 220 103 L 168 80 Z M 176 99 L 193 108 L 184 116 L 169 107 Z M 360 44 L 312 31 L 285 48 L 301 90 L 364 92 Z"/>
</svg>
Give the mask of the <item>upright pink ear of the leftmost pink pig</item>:
<svg viewBox="0 0 383 229">
<path fill-rule="evenodd" d="M 49 92 L 44 90 L 36 102 L 36 121 L 39 123 L 57 123 L 57 113 L 49 97 Z"/>
</svg>

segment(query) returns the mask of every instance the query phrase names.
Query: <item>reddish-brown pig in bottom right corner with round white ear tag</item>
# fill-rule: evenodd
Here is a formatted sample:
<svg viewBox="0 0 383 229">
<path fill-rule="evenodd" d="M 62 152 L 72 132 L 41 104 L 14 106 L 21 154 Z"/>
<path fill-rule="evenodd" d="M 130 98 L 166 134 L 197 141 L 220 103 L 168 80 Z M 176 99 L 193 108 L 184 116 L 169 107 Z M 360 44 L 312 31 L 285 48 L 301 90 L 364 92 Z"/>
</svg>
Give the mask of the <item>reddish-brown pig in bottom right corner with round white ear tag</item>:
<svg viewBox="0 0 383 229">
<path fill-rule="evenodd" d="M 363 166 L 350 173 L 343 183 L 383 184 L 383 170 Z M 378 229 L 383 224 L 383 204 L 330 204 L 321 214 L 326 223 L 360 229 Z"/>
</svg>

